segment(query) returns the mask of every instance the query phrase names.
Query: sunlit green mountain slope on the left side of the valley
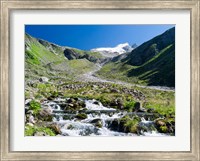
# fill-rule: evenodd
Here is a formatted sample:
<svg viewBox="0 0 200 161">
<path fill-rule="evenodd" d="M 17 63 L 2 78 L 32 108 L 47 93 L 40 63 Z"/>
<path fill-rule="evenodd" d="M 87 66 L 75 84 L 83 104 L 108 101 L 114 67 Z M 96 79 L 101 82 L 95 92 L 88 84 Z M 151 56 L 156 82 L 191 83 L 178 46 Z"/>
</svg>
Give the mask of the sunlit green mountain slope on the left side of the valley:
<svg viewBox="0 0 200 161">
<path fill-rule="evenodd" d="M 26 78 L 74 79 L 96 68 L 104 58 L 97 52 L 61 47 L 25 34 Z"/>
</svg>

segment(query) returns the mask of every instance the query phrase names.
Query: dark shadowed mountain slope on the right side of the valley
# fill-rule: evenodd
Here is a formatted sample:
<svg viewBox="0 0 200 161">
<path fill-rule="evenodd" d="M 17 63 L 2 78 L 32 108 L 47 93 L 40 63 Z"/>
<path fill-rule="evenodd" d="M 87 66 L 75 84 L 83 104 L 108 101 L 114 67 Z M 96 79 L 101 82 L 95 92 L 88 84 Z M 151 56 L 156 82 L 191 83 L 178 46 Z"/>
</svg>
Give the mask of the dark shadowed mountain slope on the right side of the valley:
<svg viewBox="0 0 200 161">
<path fill-rule="evenodd" d="M 131 83 L 175 86 L 175 28 L 106 64 L 99 76 Z"/>
</svg>

